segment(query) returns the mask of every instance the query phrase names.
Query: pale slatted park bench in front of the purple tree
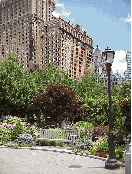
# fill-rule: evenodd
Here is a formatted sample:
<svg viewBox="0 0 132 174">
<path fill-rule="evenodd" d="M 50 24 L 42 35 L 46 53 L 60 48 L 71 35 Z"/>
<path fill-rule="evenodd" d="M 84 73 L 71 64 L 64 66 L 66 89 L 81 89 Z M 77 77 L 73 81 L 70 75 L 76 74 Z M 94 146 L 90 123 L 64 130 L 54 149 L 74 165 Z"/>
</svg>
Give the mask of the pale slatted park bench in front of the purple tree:
<svg viewBox="0 0 132 174">
<path fill-rule="evenodd" d="M 68 142 L 71 143 L 73 148 L 73 144 L 76 139 L 80 138 L 80 130 L 59 130 L 59 129 L 42 129 L 40 128 L 39 137 L 35 138 L 35 146 L 36 142 L 44 140 L 44 141 L 58 141 L 58 142 Z"/>
</svg>

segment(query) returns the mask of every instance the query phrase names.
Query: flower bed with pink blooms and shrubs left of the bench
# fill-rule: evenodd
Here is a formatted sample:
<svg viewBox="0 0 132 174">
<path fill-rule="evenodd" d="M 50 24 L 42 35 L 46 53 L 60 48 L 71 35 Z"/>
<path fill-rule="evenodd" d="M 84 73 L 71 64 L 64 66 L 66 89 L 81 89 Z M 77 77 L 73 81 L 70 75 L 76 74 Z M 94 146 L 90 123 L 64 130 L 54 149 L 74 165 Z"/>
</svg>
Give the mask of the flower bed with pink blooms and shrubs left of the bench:
<svg viewBox="0 0 132 174">
<path fill-rule="evenodd" d="M 29 125 L 24 119 L 9 116 L 7 120 L 0 120 L 0 145 L 32 146 L 37 132 L 35 125 Z"/>
</svg>

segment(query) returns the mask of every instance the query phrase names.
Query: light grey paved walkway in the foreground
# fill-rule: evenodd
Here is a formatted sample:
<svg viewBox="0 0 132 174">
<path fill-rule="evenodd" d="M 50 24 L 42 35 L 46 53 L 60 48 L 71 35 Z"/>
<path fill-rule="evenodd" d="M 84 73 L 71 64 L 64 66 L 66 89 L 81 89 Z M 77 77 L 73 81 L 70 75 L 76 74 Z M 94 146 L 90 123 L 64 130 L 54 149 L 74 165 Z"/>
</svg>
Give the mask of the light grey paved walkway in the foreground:
<svg viewBox="0 0 132 174">
<path fill-rule="evenodd" d="M 125 174 L 125 167 L 104 168 L 105 161 L 44 149 L 0 148 L 0 174 Z"/>
</svg>

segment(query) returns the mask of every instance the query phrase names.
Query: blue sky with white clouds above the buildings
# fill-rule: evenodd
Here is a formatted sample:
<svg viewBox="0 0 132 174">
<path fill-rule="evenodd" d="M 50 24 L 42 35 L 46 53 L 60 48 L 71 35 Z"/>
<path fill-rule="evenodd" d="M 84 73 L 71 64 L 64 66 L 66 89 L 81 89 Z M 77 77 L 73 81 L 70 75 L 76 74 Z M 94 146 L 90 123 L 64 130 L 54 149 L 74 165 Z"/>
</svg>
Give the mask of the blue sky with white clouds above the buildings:
<svg viewBox="0 0 132 174">
<path fill-rule="evenodd" d="M 55 15 L 79 24 L 92 36 L 94 50 L 98 44 L 101 51 L 115 51 L 112 70 L 123 75 L 131 51 L 131 0 L 56 0 Z"/>
</svg>

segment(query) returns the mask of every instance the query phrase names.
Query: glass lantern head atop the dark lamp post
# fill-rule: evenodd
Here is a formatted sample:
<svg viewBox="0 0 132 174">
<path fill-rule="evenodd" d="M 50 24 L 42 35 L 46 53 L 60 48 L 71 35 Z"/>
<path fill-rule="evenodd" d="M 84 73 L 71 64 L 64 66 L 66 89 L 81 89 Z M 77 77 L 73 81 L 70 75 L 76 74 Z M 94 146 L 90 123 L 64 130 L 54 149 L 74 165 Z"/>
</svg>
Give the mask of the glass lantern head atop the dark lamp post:
<svg viewBox="0 0 132 174">
<path fill-rule="evenodd" d="M 109 49 L 108 47 L 102 52 L 103 59 L 105 61 L 105 64 L 110 63 L 112 65 L 114 60 L 115 52 Z"/>
</svg>

